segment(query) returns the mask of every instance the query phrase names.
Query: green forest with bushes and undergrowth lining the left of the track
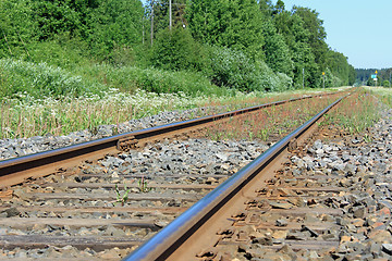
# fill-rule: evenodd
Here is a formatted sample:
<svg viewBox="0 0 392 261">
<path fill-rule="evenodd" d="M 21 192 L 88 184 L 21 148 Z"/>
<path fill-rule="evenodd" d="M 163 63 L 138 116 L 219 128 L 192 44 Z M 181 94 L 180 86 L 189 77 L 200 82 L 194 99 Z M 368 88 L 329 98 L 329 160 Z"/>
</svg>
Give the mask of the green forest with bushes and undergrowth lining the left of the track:
<svg viewBox="0 0 392 261">
<path fill-rule="evenodd" d="M 316 10 L 282 0 L 2 0 L 0 97 L 353 85 L 326 37 Z"/>
</svg>

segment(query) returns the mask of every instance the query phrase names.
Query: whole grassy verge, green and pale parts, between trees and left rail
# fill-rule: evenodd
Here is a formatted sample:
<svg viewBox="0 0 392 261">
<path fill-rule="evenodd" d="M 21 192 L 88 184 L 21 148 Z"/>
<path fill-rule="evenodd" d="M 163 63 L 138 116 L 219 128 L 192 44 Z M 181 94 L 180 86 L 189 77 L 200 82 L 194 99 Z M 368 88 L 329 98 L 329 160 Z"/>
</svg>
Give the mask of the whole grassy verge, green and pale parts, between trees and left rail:
<svg viewBox="0 0 392 261">
<path fill-rule="evenodd" d="M 213 114 L 304 94 L 242 94 L 187 72 L 105 64 L 82 64 L 70 71 L 0 59 L 0 138 L 66 135 L 199 107 L 208 108 L 205 114 Z"/>
</svg>

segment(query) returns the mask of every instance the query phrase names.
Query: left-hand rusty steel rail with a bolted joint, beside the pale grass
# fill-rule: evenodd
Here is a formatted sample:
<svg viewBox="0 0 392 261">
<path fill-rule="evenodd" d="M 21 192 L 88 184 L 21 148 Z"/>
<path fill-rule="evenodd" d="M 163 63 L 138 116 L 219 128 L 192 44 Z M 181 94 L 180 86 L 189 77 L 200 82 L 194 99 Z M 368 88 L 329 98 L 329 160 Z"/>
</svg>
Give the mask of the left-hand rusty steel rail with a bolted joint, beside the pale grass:
<svg viewBox="0 0 392 261">
<path fill-rule="evenodd" d="M 225 117 L 257 111 L 264 108 L 333 94 L 336 92 L 306 96 L 290 100 L 265 103 L 194 120 L 187 120 L 183 122 L 119 134 L 111 137 L 72 145 L 50 151 L 44 151 L 35 154 L 3 160 L 0 161 L 0 186 L 7 187 L 15 185 L 28 178 L 37 178 L 51 173 L 56 173 L 58 171 L 61 171 L 62 169 L 74 166 L 78 162 L 82 162 L 86 159 L 97 160 L 105 157 L 105 154 L 117 153 L 121 151 L 121 149 L 119 149 L 119 146 L 121 146 L 122 144 L 128 146 L 132 144 L 137 144 L 139 140 L 143 139 L 154 139 L 154 137 L 157 137 L 159 135 L 175 134 L 176 132 L 179 133 L 181 129 L 195 128 L 196 126 L 203 127 L 203 124 L 208 124 Z"/>
</svg>

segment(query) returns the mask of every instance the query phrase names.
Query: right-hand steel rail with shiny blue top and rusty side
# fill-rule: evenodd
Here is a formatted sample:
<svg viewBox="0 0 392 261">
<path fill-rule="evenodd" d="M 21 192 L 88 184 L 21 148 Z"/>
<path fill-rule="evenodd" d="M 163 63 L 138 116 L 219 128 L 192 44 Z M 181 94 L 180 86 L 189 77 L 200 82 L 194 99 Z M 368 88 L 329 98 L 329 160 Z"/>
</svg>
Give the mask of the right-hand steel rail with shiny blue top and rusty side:
<svg viewBox="0 0 392 261">
<path fill-rule="evenodd" d="M 172 221 L 152 238 L 133 251 L 124 261 L 166 260 L 183 245 L 188 237 L 197 232 L 204 223 L 225 206 L 238 191 L 254 179 L 257 174 L 284 151 L 290 141 L 297 139 L 322 117 L 331 108 L 351 94 L 341 97 L 304 125 L 278 141 L 273 147 L 256 158 L 253 162 L 241 169 L 236 174 L 222 183 L 203 199 L 197 201 L 187 211 Z"/>
</svg>

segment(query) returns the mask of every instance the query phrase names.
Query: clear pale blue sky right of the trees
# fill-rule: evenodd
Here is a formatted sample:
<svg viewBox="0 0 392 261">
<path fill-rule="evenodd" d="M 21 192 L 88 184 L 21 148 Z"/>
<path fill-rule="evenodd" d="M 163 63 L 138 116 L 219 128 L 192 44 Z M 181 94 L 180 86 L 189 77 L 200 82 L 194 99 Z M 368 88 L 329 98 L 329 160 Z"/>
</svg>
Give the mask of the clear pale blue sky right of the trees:
<svg viewBox="0 0 392 261">
<path fill-rule="evenodd" d="M 275 3 L 277 0 L 273 0 Z M 327 44 L 354 67 L 392 67 L 392 0 L 283 0 L 315 9 L 323 20 Z"/>
</svg>

